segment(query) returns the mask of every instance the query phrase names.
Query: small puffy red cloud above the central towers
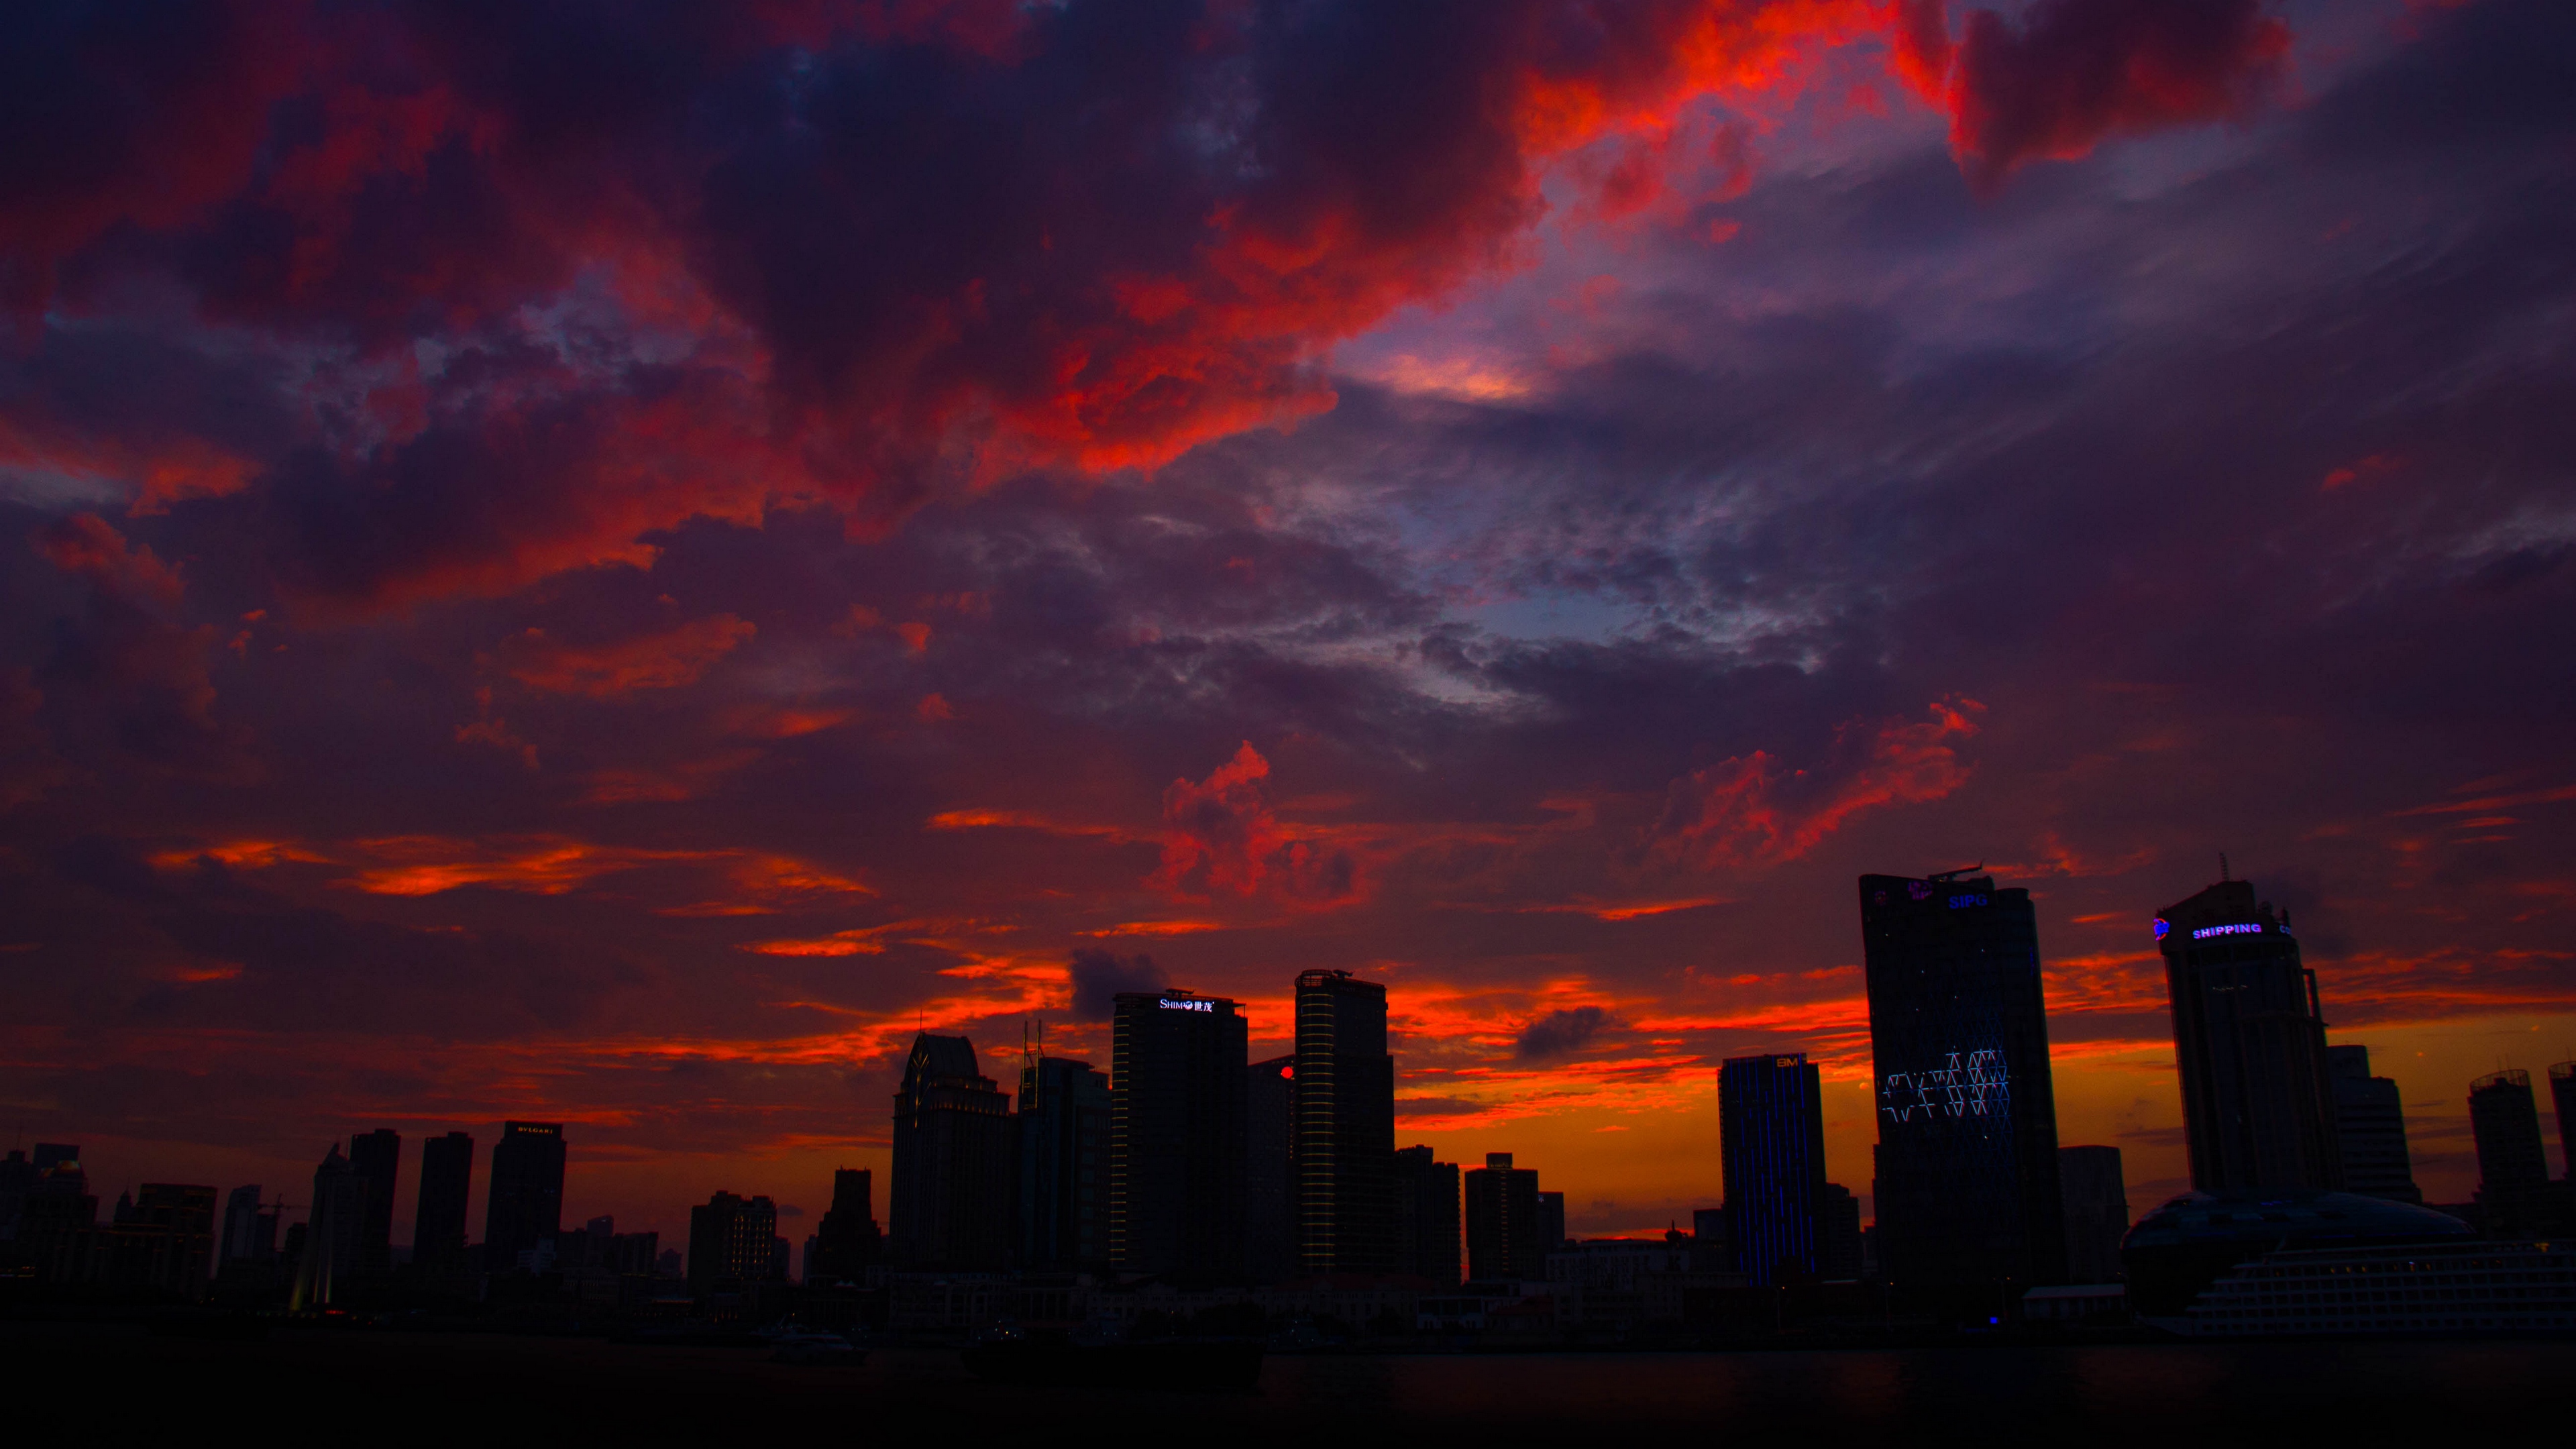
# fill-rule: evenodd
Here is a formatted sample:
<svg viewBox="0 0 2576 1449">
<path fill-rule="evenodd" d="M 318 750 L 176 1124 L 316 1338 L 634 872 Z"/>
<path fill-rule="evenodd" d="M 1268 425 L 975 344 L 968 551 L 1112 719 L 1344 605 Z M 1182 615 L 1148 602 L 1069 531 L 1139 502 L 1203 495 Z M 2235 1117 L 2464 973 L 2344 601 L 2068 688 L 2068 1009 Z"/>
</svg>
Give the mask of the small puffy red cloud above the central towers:
<svg viewBox="0 0 2576 1449">
<path fill-rule="evenodd" d="M 1262 882 L 1303 905 L 1345 905 L 1363 895 L 1358 859 L 1321 838 L 1280 828 L 1262 799 L 1270 761 L 1247 740 L 1206 781 L 1175 779 L 1162 792 L 1162 869 L 1154 884 L 1203 900 L 1218 890 L 1255 895 Z"/>
</svg>

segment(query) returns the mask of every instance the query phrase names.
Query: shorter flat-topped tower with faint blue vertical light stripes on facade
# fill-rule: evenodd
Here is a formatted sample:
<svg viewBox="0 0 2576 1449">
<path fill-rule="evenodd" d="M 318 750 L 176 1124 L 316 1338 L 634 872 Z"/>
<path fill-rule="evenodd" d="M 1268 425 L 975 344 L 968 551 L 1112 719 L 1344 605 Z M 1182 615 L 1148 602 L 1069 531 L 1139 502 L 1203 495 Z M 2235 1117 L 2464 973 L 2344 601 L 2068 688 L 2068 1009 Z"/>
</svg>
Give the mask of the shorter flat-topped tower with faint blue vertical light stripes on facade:
<svg viewBox="0 0 2576 1449">
<path fill-rule="evenodd" d="M 1736 1271 L 1762 1287 L 1824 1271 L 1824 1091 L 1803 1052 L 1718 1065 L 1718 1155 Z"/>
</svg>

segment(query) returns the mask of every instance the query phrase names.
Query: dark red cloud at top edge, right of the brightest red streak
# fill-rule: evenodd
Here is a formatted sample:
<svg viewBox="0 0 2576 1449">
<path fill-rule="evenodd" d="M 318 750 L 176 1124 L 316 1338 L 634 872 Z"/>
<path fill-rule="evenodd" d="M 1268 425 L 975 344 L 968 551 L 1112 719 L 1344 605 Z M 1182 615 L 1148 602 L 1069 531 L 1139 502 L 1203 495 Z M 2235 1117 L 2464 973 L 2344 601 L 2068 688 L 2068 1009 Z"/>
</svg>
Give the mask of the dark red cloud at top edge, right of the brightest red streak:
<svg viewBox="0 0 2576 1449">
<path fill-rule="evenodd" d="M 1922 72 L 1937 54 L 1914 8 Z M 1968 15 L 1950 72 L 1950 144 L 1978 186 L 2107 137 L 2246 113 L 2282 77 L 2290 26 L 2262 0 L 2040 0 L 2014 26 Z"/>
</svg>

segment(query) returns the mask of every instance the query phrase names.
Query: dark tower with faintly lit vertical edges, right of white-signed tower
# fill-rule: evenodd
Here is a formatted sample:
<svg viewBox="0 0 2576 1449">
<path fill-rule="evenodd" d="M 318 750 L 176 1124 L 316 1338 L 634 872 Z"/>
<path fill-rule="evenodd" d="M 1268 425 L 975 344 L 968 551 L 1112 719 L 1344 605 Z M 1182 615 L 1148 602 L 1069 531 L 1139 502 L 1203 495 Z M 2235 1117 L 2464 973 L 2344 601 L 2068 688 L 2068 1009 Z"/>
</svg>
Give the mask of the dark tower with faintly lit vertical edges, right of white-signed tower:
<svg viewBox="0 0 2576 1449">
<path fill-rule="evenodd" d="M 1350 972 L 1296 977 L 1298 1271 L 1396 1266 L 1396 1060 L 1386 987 Z"/>
</svg>

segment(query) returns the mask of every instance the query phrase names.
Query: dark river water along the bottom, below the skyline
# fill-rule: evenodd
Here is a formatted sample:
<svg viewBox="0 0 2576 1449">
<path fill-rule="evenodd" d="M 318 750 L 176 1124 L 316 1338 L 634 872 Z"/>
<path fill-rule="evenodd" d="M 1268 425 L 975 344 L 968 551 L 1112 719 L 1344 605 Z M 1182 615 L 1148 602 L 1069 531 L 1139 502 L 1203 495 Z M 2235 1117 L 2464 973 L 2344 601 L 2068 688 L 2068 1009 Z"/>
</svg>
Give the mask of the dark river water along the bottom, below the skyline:
<svg viewBox="0 0 2576 1449">
<path fill-rule="evenodd" d="M 878 1351 L 799 1369 L 760 1351 L 482 1336 L 281 1336 L 193 1343 L 0 1333 L 0 1418 L 23 1444 L 270 1434 L 325 1444 L 866 1444 L 989 1436 L 1036 1446 L 1188 1436 L 1321 1444 L 2061 1441 L 2555 1444 L 2576 1343 L 1960 1346 L 1906 1351 L 1270 1359 L 1260 1392 L 1015 1390 L 953 1354 Z M 353 1439 L 350 1439 L 353 1436 Z M 175 1441 L 175 1439 L 173 1439 Z"/>
</svg>

